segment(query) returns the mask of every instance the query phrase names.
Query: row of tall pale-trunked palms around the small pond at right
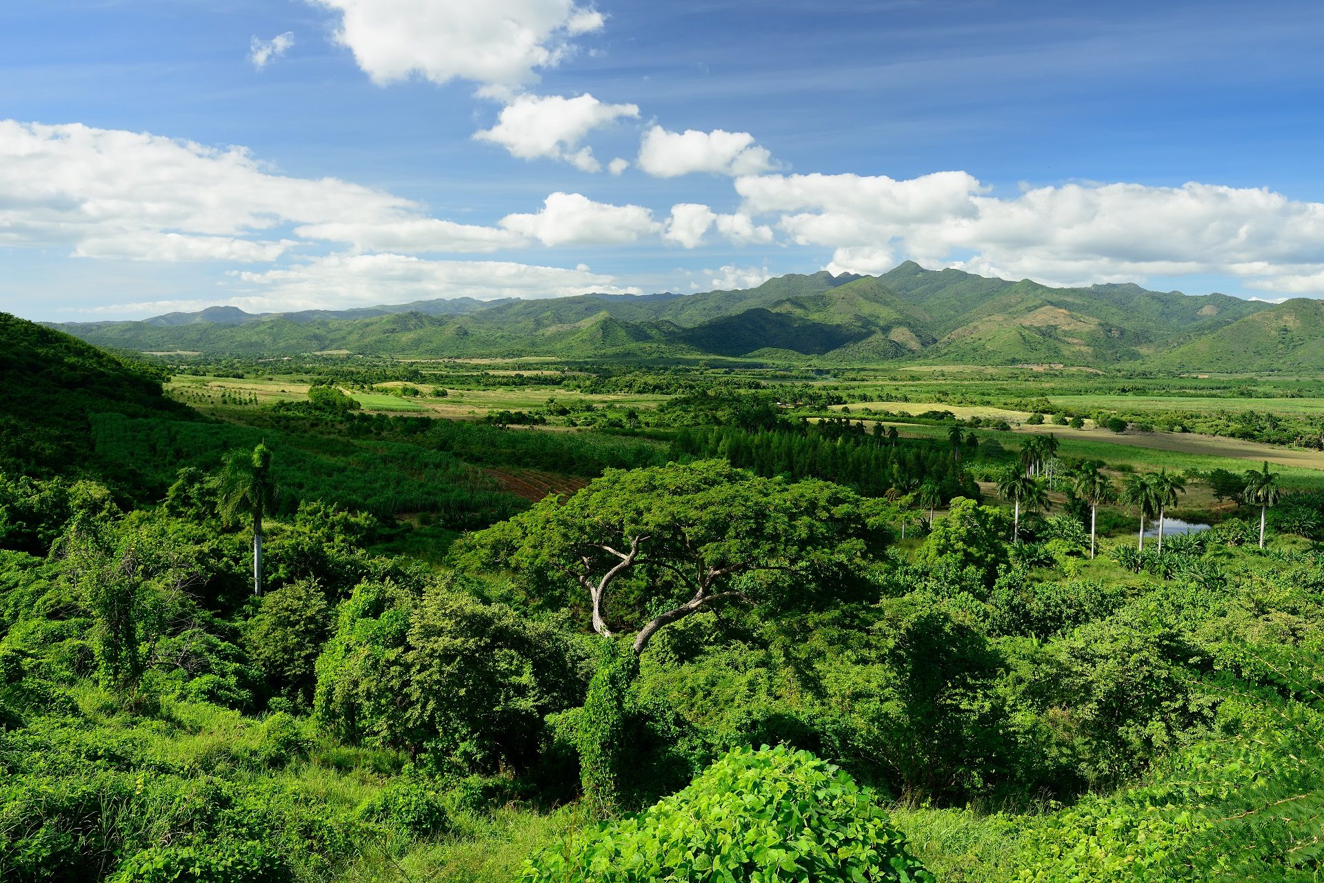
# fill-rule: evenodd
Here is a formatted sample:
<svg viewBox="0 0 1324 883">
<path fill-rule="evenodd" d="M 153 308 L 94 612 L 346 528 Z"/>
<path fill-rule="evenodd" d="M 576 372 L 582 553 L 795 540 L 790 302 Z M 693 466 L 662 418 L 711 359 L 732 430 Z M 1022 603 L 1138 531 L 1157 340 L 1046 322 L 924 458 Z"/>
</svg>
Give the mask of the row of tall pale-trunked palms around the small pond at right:
<svg viewBox="0 0 1324 883">
<path fill-rule="evenodd" d="M 1054 436 L 1042 436 L 1030 440 L 1022 449 L 1019 462 L 1006 469 L 998 478 L 998 492 L 1013 506 L 1012 541 L 1019 541 L 1021 515 L 1047 508 L 1050 504 L 1049 490 L 1051 482 L 1058 475 L 1054 469 L 1058 463 L 1058 440 Z M 1047 475 L 1047 481 L 1045 481 Z M 1176 473 L 1169 473 L 1166 467 L 1157 473 L 1133 473 L 1127 475 L 1119 487 L 1113 479 L 1103 471 L 1103 465 L 1084 461 L 1070 470 L 1063 478 L 1070 482 L 1072 491 L 1090 506 L 1090 557 L 1095 557 L 1098 549 L 1098 516 L 1099 507 L 1110 503 L 1121 503 L 1133 510 L 1140 518 L 1137 545 L 1144 551 L 1145 523 L 1149 519 L 1158 519 L 1158 552 L 1162 553 L 1164 524 L 1168 508 L 1177 504 L 1178 495 L 1186 492 L 1186 479 Z M 1259 545 L 1264 547 L 1264 534 L 1267 514 L 1271 506 L 1282 499 L 1282 487 L 1278 483 L 1278 473 L 1268 470 L 1268 461 L 1258 470 L 1247 470 L 1242 475 L 1242 488 L 1239 499 L 1247 506 L 1259 507 Z"/>
</svg>

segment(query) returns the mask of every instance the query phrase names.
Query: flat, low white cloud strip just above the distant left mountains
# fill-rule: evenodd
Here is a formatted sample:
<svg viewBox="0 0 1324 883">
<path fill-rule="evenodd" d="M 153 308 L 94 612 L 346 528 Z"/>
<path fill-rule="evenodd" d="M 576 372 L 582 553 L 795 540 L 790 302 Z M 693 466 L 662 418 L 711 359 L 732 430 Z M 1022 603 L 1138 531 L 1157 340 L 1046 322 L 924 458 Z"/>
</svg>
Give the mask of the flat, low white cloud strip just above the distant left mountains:
<svg viewBox="0 0 1324 883">
<path fill-rule="evenodd" d="M 639 294 L 587 267 L 531 266 L 506 261 L 426 261 L 402 254 L 330 254 L 289 269 L 238 273 L 257 286 L 229 301 L 245 310 L 278 311 L 408 303 L 432 298 L 560 298 L 573 294 Z"/>
</svg>

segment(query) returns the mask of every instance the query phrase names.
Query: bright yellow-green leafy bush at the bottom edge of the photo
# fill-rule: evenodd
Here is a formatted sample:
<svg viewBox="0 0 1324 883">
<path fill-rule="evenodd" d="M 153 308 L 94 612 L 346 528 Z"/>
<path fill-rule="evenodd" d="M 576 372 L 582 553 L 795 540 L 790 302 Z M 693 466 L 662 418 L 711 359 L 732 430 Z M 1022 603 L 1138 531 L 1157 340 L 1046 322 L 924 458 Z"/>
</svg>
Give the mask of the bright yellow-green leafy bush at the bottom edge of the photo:
<svg viewBox="0 0 1324 883">
<path fill-rule="evenodd" d="M 524 863 L 520 880 L 914 880 L 933 875 L 869 790 L 809 752 L 736 749 L 639 815 Z"/>
</svg>

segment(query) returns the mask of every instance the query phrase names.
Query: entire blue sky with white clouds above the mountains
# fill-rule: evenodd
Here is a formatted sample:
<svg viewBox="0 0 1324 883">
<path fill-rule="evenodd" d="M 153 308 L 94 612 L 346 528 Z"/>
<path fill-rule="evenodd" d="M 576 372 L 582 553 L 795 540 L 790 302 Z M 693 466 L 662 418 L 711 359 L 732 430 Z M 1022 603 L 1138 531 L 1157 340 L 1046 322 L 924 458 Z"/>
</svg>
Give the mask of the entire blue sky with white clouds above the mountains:
<svg viewBox="0 0 1324 883">
<path fill-rule="evenodd" d="M 1316 0 L 0 4 L 0 310 L 1324 297 Z"/>
</svg>

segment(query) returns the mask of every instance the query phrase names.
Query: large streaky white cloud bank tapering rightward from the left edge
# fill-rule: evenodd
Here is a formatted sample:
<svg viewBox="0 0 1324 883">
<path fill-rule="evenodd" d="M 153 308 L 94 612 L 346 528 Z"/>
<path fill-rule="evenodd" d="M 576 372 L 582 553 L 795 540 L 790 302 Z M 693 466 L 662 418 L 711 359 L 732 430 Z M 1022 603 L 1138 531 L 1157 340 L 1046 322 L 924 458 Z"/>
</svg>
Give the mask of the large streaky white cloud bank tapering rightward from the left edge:
<svg viewBox="0 0 1324 883">
<path fill-rule="evenodd" d="M 0 122 L 0 244 L 69 245 L 95 258 L 270 262 L 295 245 L 273 236 L 283 228 L 365 250 L 527 245 L 508 229 L 428 217 L 381 191 L 277 175 L 237 147 Z"/>
</svg>

